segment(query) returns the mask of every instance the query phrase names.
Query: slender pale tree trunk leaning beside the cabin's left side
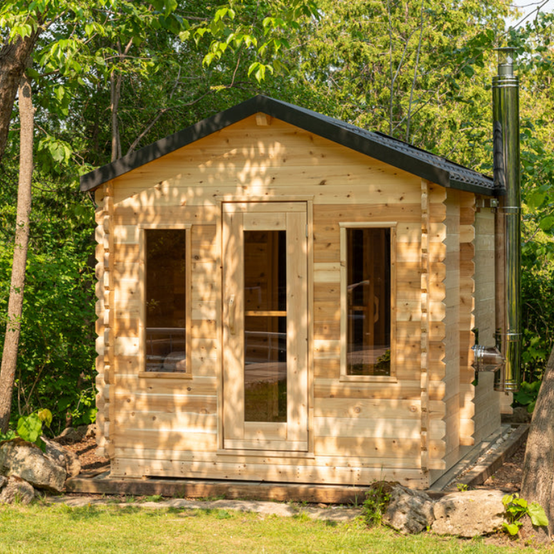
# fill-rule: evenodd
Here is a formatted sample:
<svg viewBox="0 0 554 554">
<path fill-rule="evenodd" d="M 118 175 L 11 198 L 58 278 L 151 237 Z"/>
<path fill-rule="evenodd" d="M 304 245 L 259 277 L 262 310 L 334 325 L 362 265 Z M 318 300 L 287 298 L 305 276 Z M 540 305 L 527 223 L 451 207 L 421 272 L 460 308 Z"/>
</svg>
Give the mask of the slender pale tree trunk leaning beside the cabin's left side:
<svg viewBox="0 0 554 554">
<path fill-rule="evenodd" d="M 10 111 L 11 114 L 11 111 Z M 17 218 L 13 251 L 12 281 L 8 301 L 6 337 L 0 368 L 0 431 L 6 433 L 10 423 L 13 383 L 17 363 L 17 348 L 23 313 L 23 293 L 27 247 L 29 242 L 29 219 L 31 203 L 31 178 L 33 177 L 33 125 L 35 110 L 31 98 L 30 79 L 25 75 L 19 84 L 19 120 L 21 137 L 19 145 L 19 184 L 17 189 Z"/>
</svg>

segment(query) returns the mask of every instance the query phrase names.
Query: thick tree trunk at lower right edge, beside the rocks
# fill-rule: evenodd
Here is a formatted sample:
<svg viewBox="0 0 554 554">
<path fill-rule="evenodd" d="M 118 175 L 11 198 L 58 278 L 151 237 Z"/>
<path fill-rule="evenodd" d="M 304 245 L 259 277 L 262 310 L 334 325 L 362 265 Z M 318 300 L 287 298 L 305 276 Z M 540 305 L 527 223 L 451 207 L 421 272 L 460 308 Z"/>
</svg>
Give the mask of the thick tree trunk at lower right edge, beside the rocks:
<svg viewBox="0 0 554 554">
<path fill-rule="evenodd" d="M 554 532 L 554 348 L 548 358 L 529 429 L 521 482 L 521 497 L 537 502 Z"/>
</svg>

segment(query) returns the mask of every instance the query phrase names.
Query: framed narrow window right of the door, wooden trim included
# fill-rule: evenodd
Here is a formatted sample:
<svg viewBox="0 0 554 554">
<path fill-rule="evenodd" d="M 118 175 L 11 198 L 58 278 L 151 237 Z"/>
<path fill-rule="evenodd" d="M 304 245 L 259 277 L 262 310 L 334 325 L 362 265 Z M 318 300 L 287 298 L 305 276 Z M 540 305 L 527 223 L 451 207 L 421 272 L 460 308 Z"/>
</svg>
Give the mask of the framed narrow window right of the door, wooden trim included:
<svg viewBox="0 0 554 554">
<path fill-rule="evenodd" d="M 393 224 L 341 224 L 341 374 L 393 373 Z"/>
</svg>

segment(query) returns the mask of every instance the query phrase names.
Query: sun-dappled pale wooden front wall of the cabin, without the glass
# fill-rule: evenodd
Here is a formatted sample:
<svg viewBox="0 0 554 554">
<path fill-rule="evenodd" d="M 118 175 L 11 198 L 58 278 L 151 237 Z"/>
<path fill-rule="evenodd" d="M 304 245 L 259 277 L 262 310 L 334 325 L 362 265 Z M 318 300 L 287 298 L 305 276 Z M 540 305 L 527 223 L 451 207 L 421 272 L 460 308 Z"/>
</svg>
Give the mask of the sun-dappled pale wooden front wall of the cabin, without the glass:
<svg viewBox="0 0 554 554">
<path fill-rule="evenodd" d="M 117 359 L 109 392 L 116 428 L 112 472 L 296 483 L 364 484 L 387 478 L 419 486 L 427 479 L 422 421 L 430 406 L 425 448 L 440 460 L 445 452 L 441 400 L 447 392 L 445 258 L 429 247 L 425 294 L 433 300 L 426 307 L 421 179 L 279 120 L 267 123 L 258 125 L 252 116 L 113 181 L 111 328 Z M 441 204 L 441 194 L 429 186 L 431 202 Z M 287 244 L 287 280 L 301 283 L 301 292 L 289 291 L 285 315 L 287 351 L 292 352 L 287 379 L 300 377 L 306 384 L 306 392 L 287 392 L 287 434 L 271 427 L 273 421 L 263 422 L 265 427 L 258 420 L 244 422 L 247 301 L 238 294 L 244 288 L 244 251 L 232 229 L 235 215 L 225 206 L 245 200 L 280 201 L 288 206 L 283 208 L 287 217 L 294 212 L 291 204 L 302 205 L 306 218 L 287 223 L 298 227 L 298 240 Z M 255 225 L 255 220 L 249 221 Z M 377 376 L 381 381 L 346 381 L 341 373 L 341 222 L 396 225 L 395 369 L 393 375 Z M 140 366 L 139 228 L 172 224 L 188 225 L 190 231 L 188 378 L 144 375 Z M 429 244 L 441 244 L 445 225 L 432 220 L 427 234 Z M 309 268 L 308 260 L 313 261 Z M 272 310 L 265 316 L 283 317 L 269 314 Z M 424 315 L 430 337 L 426 357 L 421 354 Z M 239 339 L 231 336 L 231 319 L 233 337 Z M 307 366 L 301 363 L 304 355 Z M 431 379 L 425 413 L 423 363 Z"/>
</svg>

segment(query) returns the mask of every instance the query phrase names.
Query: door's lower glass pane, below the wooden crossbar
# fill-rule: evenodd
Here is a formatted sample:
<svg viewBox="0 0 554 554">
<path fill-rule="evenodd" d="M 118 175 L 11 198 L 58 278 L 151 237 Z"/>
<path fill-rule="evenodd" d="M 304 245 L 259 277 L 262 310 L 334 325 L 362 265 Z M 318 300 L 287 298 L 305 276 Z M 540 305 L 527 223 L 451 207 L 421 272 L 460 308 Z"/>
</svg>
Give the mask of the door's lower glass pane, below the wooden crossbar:
<svg viewBox="0 0 554 554">
<path fill-rule="evenodd" d="M 244 318 L 244 420 L 287 421 L 287 318 Z"/>
</svg>

